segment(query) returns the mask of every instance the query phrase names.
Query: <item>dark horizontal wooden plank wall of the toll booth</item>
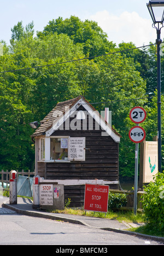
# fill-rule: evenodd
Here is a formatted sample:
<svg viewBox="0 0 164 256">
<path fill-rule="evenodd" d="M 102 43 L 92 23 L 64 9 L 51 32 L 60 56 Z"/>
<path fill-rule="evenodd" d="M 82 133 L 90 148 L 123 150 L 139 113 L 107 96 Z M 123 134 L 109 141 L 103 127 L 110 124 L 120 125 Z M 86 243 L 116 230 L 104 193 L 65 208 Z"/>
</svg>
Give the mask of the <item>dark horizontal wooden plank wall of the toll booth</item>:
<svg viewBox="0 0 164 256">
<path fill-rule="evenodd" d="M 70 122 L 72 118 L 70 118 Z M 82 123 L 82 121 L 81 121 Z M 95 127 L 95 122 L 93 127 Z M 65 126 L 64 126 L 65 128 Z M 39 162 L 38 174 L 45 179 L 101 179 L 119 180 L 119 143 L 110 136 L 101 136 L 99 130 L 56 130 L 52 136 L 85 137 L 85 161 Z M 117 184 L 110 189 L 118 189 Z M 71 206 L 84 203 L 84 185 L 65 186 L 65 198 L 71 198 Z"/>
</svg>

